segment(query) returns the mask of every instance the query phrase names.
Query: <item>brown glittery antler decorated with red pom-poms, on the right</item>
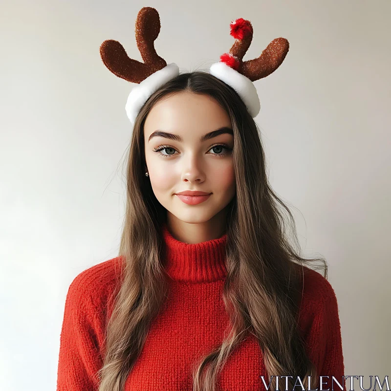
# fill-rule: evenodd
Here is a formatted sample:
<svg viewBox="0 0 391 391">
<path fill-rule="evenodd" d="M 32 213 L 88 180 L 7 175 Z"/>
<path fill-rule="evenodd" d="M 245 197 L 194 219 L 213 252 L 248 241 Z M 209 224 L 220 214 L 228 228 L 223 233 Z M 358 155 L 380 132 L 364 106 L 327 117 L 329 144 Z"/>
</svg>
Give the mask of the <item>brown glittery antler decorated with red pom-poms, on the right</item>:
<svg viewBox="0 0 391 391">
<path fill-rule="evenodd" d="M 285 38 L 276 38 L 267 45 L 260 57 L 243 62 L 253 38 L 253 26 L 250 21 L 239 18 L 231 23 L 230 34 L 237 39 L 229 51 L 239 62 L 233 67 L 253 82 L 273 73 L 282 64 L 289 50 L 289 42 Z"/>
</svg>

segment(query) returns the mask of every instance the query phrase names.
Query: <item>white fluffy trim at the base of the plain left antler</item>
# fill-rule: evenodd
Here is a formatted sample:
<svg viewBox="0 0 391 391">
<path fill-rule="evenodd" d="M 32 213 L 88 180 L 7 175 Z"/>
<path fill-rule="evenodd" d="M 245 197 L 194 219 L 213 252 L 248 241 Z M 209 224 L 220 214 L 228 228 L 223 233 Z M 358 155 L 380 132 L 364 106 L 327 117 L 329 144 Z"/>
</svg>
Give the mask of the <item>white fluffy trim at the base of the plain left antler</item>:
<svg viewBox="0 0 391 391">
<path fill-rule="evenodd" d="M 152 75 L 149 75 L 141 83 L 133 87 L 125 106 L 126 113 L 132 124 L 153 92 L 178 75 L 178 65 L 171 63 L 152 73 Z"/>
</svg>

